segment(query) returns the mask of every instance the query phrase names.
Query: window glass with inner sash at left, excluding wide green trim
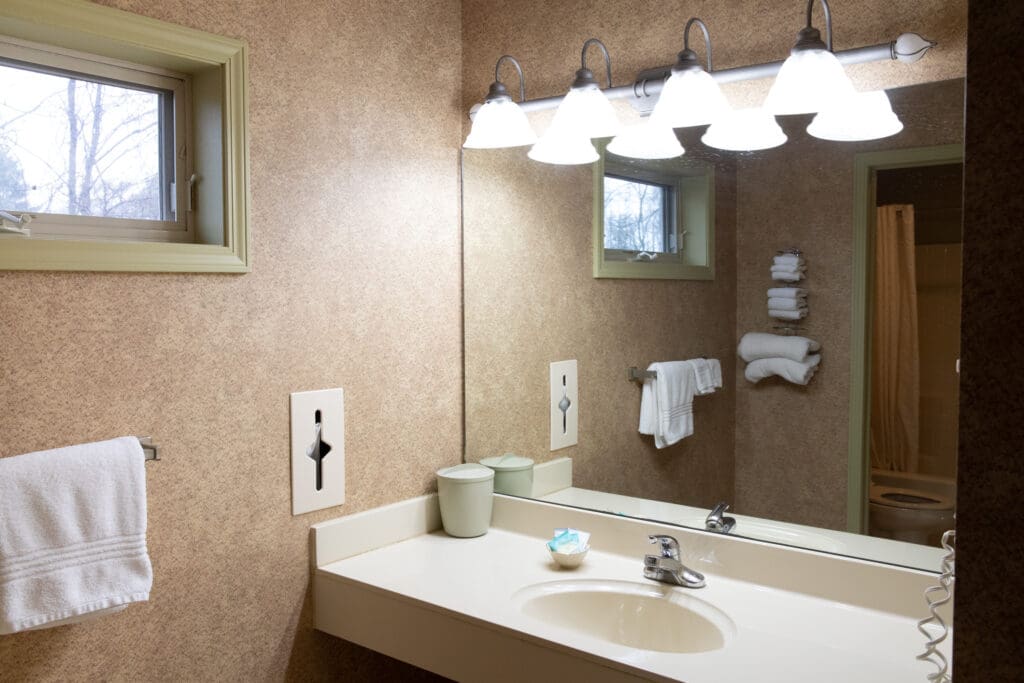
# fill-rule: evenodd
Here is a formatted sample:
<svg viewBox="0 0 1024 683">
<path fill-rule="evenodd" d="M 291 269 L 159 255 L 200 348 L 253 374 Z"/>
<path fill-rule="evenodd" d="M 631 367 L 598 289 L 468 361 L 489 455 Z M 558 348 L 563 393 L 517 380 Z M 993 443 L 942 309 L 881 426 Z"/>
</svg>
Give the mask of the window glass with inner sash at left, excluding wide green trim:
<svg viewBox="0 0 1024 683">
<path fill-rule="evenodd" d="M 0 209 L 36 237 L 194 242 L 190 80 L 0 38 Z"/>
</svg>

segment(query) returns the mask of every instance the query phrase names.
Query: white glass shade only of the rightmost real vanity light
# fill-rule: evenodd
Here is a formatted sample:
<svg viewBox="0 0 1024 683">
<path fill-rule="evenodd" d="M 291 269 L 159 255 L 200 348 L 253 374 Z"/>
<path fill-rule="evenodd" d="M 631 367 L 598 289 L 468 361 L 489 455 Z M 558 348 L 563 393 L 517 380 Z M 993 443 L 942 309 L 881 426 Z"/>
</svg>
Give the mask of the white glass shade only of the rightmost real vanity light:
<svg viewBox="0 0 1024 683">
<path fill-rule="evenodd" d="M 835 54 L 799 50 L 782 62 L 764 109 L 776 116 L 815 114 L 853 93 L 853 84 Z"/>
</svg>

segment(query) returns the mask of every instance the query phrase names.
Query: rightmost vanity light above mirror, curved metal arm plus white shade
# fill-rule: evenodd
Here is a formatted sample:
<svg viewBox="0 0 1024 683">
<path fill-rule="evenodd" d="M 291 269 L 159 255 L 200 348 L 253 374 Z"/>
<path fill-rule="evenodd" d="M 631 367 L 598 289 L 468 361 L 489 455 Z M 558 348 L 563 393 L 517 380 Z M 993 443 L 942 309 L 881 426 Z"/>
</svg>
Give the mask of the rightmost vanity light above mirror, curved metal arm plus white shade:
<svg viewBox="0 0 1024 683">
<path fill-rule="evenodd" d="M 811 26 L 814 0 L 807 0 L 807 26 L 775 77 L 764 109 L 775 115 L 815 114 L 854 93 L 843 65 L 833 53 L 831 11 L 828 0 L 818 0 L 825 15 L 825 42 Z"/>
</svg>

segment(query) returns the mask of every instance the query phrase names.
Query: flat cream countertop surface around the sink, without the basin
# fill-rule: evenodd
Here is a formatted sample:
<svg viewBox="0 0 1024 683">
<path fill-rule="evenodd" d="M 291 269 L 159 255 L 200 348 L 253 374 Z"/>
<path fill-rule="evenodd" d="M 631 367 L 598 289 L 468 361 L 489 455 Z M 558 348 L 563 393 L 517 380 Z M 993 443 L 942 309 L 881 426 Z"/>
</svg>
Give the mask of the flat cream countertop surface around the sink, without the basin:
<svg viewBox="0 0 1024 683">
<path fill-rule="evenodd" d="M 532 511 L 532 508 L 521 508 L 530 504 L 543 505 L 529 501 L 510 505 L 519 506 L 519 510 Z M 551 514 L 559 517 L 557 510 Z M 596 513 L 577 511 L 575 514 Z M 735 578 L 734 570 L 716 572 L 714 564 L 705 561 L 693 565 L 693 568 L 706 574 L 706 588 L 676 587 L 670 590 L 688 592 L 718 607 L 731 618 L 735 633 L 727 637 L 725 646 L 719 650 L 681 654 L 631 648 L 523 614 L 513 595 L 535 584 L 562 580 L 654 584 L 642 575 L 645 538 L 638 541 L 640 552 L 635 554 L 601 549 L 600 535 L 611 537 L 617 532 L 603 528 L 617 521 L 607 515 L 604 517 L 607 519 L 592 518 L 593 525 L 599 527 L 591 529 L 595 530 L 593 549 L 583 566 L 574 570 L 559 569 L 551 561 L 545 548 L 545 538 L 492 527 L 486 535 L 476 539 L 455 539 L 439 530 L 420 533 L 323 564 L 316 569 L 316 578 L 324 582 L 338 582 L 347 588 L 372 591 L 378 596 L 393 599 L 396 604 L 416 604 L 517 639 L 544 643 L 563 652 L 602 661 L 624 674 L 629 672 L 690 683 L 745 683 L 751 680 L 883 683 L 924 681 L 927 674 L 934 671 L 931 665 L 914 658 L 924 649 L 924 637 L 918 632 L 915 617 L 823 599 L 801 591 L 783 590 L 777 585 L 739 580 Z M 583 519 L 588 518 L 585 516 Z M 622 520 L 622 523 L 636 525 L 640 522 Z M 647 527 L 652 532 L 660 532 L 649 523 Z M 627 531 L 633 535 L 634 527 L 629 527 Z M 674 529 L 673 532 L 685 548 L 687 539 L 684 536 L 687 532 L 684 529 Z M 754 553 L 754 562 L 757 562 L 759 552 L 770 552 L 766 557 L 771 558 L 785 557 L 779 553 L 801 553 L 765 549 L 742 540 L 712 541 L 727 544 L 720 546 L 719 554 L 723 557 L 732 557 L 737 552 Z M 652 550 L 650 546 L 646 548 Z M 689 563 L 685 552 L 683 559 Z M 703 559 L 707 559 L 707 551 Z M 799 560 L 799 557 L 795 558 L 795 561 Z M 728 561 L 734 563 L 731 559 Z M 848 571 L 851 582 L 862 582 L 863 577 L 876 575 L 871 573 L 874 569 L 865 569 L 863 563 L 840 558 L 829 558 L 829 561 L 835 562 L 833 569 L 840 574 Z M 820 571 L 822 566 L 831 566 L 822 565 L 820 556 L 814 562 L 815 571 Z M 756 568 L 753 575 L 757 575 Z M 842 575 L 831 579 L 838 579 L 840 583 L 843 581 Z M 927 581 L 926 578 L 922 580 Z M 855 590 L 870 591 L 871 586 L 859 586 Z M 881 587 L 880 590 L 884 592 L 886 589 Z M 878 602 L 885 604 L 884 599 Z M 923 598 L 921 603 L 924 615 Z M 317 603 L 317 610 L 322 609 L 331 609 L 331 606 Z"/>
</svg>

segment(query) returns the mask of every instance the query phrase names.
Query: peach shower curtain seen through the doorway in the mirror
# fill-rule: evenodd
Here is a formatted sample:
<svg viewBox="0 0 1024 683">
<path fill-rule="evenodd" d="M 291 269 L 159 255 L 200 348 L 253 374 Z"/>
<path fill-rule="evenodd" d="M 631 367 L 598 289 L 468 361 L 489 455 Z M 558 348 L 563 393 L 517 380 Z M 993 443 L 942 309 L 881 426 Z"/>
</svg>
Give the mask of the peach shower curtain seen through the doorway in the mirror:
<svg viewBox="0 0 1024 683">
<path fill-rule="evenodd" d="M 871 467 L 918 469 L 920 370 L 913 206 L 879 207 L 871 331 Z"/>
</svg>

